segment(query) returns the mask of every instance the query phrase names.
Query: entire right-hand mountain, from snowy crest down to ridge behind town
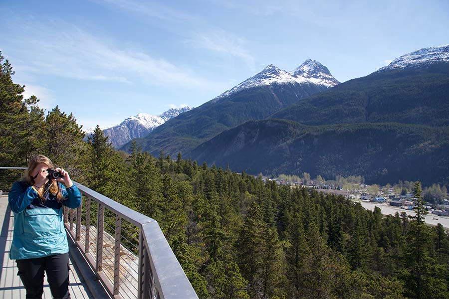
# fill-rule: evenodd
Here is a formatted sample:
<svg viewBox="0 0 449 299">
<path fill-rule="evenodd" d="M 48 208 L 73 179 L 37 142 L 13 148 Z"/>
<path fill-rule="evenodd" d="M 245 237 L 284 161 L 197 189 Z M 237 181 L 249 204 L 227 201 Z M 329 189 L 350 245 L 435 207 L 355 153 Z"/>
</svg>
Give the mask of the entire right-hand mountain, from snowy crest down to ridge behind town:
<svg viewBox="0 0 449 299">
<path fill-rule="evenodd" d="M 234 127 L 192 150 L 235 171 L 449 183 L 449 45 Z"/>
</svg>

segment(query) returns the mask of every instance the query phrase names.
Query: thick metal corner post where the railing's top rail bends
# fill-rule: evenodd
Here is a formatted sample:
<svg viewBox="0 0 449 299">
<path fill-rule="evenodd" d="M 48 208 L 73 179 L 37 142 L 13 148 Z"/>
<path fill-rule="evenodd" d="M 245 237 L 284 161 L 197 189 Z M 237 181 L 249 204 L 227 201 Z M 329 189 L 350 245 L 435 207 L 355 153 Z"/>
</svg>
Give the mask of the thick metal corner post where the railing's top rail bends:
<svg viewBox="0 0 449 299">
<path fill-rule="evenodd" d="M 153 297 L 153 284 L 150 274 L 150 258 L 145 246 L 142 227 L 139 229 L 139 273 L 138 273 L 138 299 L 147 299 Z"/>
</svg>

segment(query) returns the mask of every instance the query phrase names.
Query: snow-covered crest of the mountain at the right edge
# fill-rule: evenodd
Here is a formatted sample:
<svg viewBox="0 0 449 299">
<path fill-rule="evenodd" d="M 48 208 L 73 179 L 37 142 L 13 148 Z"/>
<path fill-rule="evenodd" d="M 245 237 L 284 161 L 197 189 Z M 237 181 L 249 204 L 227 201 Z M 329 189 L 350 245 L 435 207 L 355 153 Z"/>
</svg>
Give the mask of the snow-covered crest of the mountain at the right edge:
<svg viewBox="0 0 449 299">
<path fill-rule="evenodd" d="M 402 55 L 378 71 L 413 68 L 437 62 L 449 62 L 449 45 L 423 48 Z"/>
</svg>

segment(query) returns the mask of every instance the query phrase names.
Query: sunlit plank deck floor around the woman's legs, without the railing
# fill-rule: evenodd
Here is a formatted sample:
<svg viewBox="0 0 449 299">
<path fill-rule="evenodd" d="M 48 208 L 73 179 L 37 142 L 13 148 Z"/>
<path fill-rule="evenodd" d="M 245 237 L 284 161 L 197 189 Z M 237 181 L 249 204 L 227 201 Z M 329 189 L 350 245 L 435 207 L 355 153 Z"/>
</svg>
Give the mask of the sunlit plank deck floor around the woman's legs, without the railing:
<svg viewBox="0 0 449 299">
<path fill-rule="evenodd" d="M 13 213 L 8 208 L 7 196 L 0 197 L 0 299 L 25 298 L 25 289 L 17 276 L 15 261 L 8 257 L 12 241 Z M 69 290 L 71 298 L 89 299 L 93 298 L 87 288 L 84 279 L 79 274 L 79 269 L 70 255 L 70 283 Z M 51 299 L 50 288 L 44 278 L 44 293 L 42 298 Z"/>
</svg>

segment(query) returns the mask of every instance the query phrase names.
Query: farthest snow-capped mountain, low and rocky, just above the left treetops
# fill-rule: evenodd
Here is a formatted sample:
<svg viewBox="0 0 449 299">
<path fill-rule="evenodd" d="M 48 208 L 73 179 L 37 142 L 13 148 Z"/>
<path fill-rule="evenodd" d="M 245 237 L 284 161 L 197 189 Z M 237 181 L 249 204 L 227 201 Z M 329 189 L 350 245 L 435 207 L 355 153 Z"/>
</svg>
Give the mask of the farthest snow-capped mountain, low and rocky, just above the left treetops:
<svg viewBox="0 0 449 299">
<path fill-rule="evenodd" d="M 145 137 L 156 127 L 162 125 L 169 119 L 191 109 L 192 108 L 189 106 L 171 108 L 161 115 L 139 113 L 136 116 L 125 119 L 120 125 L 103 130 L 103 132 L 109 137 L 109 141 L 114 148 L 119 148 L 135 138 Z"/>
</svg>

